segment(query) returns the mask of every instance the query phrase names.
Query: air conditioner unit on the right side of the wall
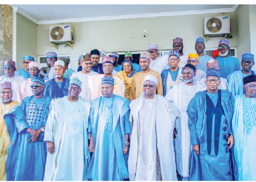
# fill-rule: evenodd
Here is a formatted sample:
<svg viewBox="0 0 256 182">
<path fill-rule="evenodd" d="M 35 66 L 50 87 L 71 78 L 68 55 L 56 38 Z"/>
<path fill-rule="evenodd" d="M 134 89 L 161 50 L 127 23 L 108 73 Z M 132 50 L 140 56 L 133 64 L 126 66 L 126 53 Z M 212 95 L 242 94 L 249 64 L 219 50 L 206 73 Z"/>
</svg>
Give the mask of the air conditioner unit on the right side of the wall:
<svg viewBox="0 0 256 182">
<path fill-rule="evenodd" d="M 230 33 L 230 17 L 229 16 L 215 16 L 204 17 L 204 31 L 205 37 L 218 37 Z"/>
</svg>

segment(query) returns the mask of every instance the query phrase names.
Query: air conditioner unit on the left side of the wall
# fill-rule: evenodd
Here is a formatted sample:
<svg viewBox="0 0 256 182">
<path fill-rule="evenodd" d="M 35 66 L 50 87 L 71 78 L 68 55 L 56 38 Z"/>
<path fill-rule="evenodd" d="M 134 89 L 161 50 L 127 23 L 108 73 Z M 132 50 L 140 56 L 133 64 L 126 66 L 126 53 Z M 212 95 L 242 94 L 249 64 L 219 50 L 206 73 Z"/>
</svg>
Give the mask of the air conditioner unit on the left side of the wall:
<svg viewBox="0 0 256 182">
<path fill-rule="evenodd" d="M 71 42 L 73 37 L 73 27 L 71 25 L 50 26 L 50 42 L 55 44 L 64 44 Z"/>
</svg>

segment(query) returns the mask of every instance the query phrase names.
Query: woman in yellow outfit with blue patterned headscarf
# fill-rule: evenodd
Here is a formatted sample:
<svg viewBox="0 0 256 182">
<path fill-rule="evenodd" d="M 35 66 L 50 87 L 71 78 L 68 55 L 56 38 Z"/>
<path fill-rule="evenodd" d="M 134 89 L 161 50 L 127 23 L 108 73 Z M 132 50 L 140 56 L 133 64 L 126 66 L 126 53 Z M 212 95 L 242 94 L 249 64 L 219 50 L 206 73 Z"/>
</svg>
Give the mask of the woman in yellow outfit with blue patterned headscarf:
<svg viewBox="0 0 256 182">
<path fill-rule="evenodd" d="M 131 90 L 131 81 L 135 73 L 138 73 L 133 69 L 133 64 L 130 60 L 124 60 L 122 62 L 122 71 L 119 71 L 116 76 L 124 81 L 125 84 L 125 98 L 129 99 Z"/>
</svg>

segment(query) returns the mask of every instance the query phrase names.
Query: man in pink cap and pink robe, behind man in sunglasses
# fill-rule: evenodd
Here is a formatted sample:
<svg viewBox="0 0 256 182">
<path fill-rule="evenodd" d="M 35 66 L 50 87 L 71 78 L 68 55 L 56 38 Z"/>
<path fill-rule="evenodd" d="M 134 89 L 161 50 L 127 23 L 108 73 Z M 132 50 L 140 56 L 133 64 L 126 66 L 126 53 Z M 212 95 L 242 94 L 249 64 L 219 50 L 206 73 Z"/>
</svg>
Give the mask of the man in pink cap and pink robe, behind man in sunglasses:
<svg viewBox="0 0 256 182">
<path fill-rule="evenodd" d="M 32 79 L 34 76 L 39 76 L 39 64 L 37 62 L 31 61 L 28 65 L 29 75 L 31 78 L 23 81 L 17 91 L 17 100 L 21 102 L 25 97 L 33 95 L 30 85 L 32 84 Z"/>
</svg>

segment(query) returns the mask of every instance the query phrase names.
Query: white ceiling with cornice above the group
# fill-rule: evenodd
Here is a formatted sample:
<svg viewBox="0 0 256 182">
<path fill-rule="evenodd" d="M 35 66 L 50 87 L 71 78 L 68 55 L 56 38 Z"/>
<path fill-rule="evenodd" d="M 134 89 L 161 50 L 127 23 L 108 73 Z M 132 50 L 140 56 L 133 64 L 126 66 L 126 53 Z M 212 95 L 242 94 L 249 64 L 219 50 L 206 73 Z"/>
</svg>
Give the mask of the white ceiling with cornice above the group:
<svg viewBox="0 0 256 182">
<path fill-rule="evenodd" d="M 28 5 L 11 4 L 14 11 L 37 24 L 96 21 L 185 14 L 234 12 L 238 5 Z M 175 16 L 176 16 L 175 15 Z M 120 17 L 120 18 L 118 18 Z M 103 19 L 102 19 L 103 18 Z M 68 19 L 68 20 L 67 20 Z"/>
</svg>

